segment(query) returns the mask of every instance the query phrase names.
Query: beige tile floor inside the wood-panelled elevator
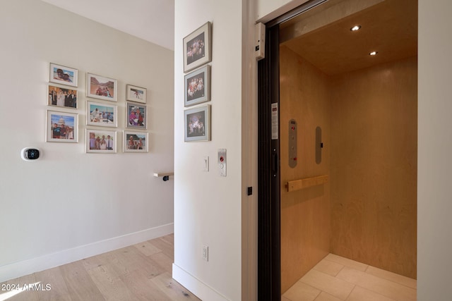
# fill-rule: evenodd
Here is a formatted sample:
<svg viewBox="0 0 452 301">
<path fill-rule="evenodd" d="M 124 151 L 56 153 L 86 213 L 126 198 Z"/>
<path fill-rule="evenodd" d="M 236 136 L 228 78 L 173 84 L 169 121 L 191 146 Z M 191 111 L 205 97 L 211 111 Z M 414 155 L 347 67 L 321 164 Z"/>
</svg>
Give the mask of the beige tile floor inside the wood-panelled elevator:
<svg viewBox="0 0 452 301">
<path fill-rule="evenodd" d="M 416 280 L 328 254 L 289 288 L 282 301 L 410 301 Z"/>
</svg>

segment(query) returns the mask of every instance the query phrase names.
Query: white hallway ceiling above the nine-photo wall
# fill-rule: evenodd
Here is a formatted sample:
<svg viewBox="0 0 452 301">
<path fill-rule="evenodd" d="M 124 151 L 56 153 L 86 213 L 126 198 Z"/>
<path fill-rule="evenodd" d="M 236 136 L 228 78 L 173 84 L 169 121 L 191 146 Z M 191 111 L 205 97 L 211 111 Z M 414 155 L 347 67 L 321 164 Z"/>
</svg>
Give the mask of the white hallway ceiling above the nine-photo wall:
<svg viewBox="0 0 452 301">
<path fill-rule="evenodd" d="M 174 50 L 174 0 L 42 0 Z"/>
</svg>

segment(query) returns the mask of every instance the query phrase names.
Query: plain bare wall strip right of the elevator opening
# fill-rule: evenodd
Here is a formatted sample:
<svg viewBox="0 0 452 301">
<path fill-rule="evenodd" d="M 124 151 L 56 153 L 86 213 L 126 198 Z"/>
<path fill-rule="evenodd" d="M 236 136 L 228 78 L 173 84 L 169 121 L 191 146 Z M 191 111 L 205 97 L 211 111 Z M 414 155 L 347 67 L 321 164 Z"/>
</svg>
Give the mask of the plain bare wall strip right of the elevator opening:
<svg viewBox="0 0 452 301">
<path fill-rule="evenodd" d="M 419 0 L 417 300 L 450 300 L 452 2 Z"/>
</svg>

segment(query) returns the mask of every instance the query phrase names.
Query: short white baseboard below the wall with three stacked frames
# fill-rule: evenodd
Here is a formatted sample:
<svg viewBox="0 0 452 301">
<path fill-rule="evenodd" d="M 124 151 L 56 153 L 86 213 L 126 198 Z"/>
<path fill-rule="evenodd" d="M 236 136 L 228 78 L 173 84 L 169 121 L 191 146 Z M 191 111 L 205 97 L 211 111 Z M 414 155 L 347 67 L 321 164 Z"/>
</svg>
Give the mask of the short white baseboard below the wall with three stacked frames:
<svg viewBox="0 0 452 301">
<path fill-rule="evenodd" d="M 227 297 L 221 295 L 209 285 L 203 283 L 177 264 L 172 264 L 172 278 L 184 285 L 184 288 L 194 293 L 201 300 L 227 301 Z"/>
</svg>

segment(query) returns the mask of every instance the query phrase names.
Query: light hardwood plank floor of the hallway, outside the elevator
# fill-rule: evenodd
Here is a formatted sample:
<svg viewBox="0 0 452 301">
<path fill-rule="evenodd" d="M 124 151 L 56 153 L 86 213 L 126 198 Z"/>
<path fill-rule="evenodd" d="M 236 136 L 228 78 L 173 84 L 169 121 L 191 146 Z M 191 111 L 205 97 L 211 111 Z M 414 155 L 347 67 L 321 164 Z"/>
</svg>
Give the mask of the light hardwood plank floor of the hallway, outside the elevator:
<svg viewBox="0 0 452 301">
<path fill-rule="evenodd" d="M 172 262 L 170 234 L 0 283 L 0 301 L 200 300 L 172 279 Z M 11 285 L 20 289 L 1 290 Z"/>
</svg>

